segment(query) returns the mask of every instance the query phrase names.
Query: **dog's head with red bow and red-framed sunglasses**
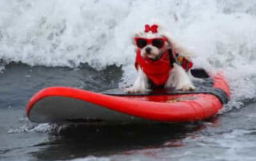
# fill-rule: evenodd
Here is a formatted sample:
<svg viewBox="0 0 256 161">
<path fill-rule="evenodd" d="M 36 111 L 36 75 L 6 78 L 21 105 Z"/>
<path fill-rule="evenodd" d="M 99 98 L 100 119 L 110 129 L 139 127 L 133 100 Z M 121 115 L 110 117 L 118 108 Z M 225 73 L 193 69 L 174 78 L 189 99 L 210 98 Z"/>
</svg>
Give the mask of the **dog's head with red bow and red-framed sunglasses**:
<svg viewBox="0 0 256 161">
<path fill-rule="evenodd" d="M 145 26 L 144 32 L 134 34 L 134 45 L 141 49 L 142 57 L 157 61 L 162 53 L 170 48 L 170 41 L 166 35 L 158 29 L 158 25 Z"/>
</svg>

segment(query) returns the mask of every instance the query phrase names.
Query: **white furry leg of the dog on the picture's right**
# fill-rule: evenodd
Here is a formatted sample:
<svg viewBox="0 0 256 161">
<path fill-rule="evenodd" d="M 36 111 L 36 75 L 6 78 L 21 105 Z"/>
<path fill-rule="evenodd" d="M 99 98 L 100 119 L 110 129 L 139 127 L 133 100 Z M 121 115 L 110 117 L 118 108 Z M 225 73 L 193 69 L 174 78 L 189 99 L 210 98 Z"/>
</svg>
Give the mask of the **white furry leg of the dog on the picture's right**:
<svg viewBox="0 0 256 161">
<path fill-rule="evenodd" d="M 174 63 L 174 68 L 170 72 L 170 77 L 166 82 L 166 88 L 173 86 L 175 89 L 186 91 L 194 90 L 194 84 L 190 80 L 190 77 L 187 75 L 186 71 L 182 66 Z"/>
</svg>

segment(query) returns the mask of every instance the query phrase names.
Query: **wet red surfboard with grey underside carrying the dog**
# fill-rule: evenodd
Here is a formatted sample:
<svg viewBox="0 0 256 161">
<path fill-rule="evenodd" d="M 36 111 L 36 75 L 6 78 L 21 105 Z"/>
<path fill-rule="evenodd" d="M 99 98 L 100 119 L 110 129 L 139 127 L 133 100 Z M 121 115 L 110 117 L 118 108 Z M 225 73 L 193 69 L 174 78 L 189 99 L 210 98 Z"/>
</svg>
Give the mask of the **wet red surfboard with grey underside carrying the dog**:
<svg viewBox="0 0 256 161">
<path fill-rule="evenodd" d="M 203 79 L 192 92 L 156 89 L 150 93 L 127 94 L 122 89 L 98 93 L 69 87 L 44 88 L 30 99 L 26 115 L 36 123 L 205 120 L 228 102 L 230 88 L 220 73 Z"/>
</svg>

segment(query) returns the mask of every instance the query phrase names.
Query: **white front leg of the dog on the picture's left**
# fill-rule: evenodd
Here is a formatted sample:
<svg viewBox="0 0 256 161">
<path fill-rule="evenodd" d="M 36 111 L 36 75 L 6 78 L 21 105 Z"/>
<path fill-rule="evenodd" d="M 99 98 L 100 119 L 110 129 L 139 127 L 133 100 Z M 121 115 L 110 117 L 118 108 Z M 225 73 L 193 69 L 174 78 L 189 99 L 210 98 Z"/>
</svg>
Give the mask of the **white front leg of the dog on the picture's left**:
<svg viewBox="0 0 256 161">
<path fill-rule="evenodd" d="M 134 84 L 130 88 L 126 88 L 126 92 L 135 93 L 135 92 L 149 92 L 148 78 L 146 74 L 138 67 L 138 77 L 136 78 Z"/>
</svg>

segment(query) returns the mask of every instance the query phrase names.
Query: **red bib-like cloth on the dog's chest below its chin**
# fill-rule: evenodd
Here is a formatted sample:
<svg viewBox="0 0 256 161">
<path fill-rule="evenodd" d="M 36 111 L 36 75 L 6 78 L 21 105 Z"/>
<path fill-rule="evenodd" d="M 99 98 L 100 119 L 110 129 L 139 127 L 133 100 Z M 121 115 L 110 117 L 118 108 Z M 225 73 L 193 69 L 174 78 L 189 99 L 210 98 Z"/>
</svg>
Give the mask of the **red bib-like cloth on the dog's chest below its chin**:
<svg viewBox="0 0 256 161">
<path fill-rule="evenodd" d="M 158 61 L 152 61 L 149 58 L 143 58 L 141 55 L 141 50 L 137 49 L 135 61 L 136 69 L 138 69 L 138 65 L 140 65 L 142 71 L 146 74 L 150 81 L 153 81 L 154 84 L 166 84 L 171 70 L 170 58 L 167 50 L 162 53 L 162 57 Z"/>
</svg>

